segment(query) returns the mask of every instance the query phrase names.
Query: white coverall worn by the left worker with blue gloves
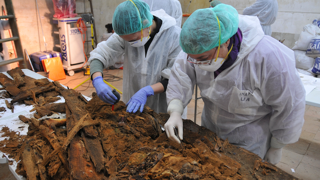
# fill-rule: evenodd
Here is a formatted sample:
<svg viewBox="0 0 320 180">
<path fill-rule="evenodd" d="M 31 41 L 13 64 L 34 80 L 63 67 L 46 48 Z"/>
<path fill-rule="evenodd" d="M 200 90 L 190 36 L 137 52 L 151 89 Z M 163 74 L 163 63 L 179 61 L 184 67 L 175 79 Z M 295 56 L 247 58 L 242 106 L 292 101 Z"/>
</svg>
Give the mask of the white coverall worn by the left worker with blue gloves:
<svg viewBox="0 0 320 180">
<path fill-rule="evenodd" d="M 144 46 L 132 47 L 116 33 L 113 33 L 107 41 L 99 43 L 90 52 L 89 62 L 92 59 L 99 59 L 104 64 L 104 69 L 122 61 L 124 54 L 122 99 L 124 103 L 127 103 L 139 89 L 169 78 L 175 57 L 181 51 L 179 45 L 181 28 L 175 26 L 175 19 L 164 10 L 153 11 L 151 14 L 163 22 L 148 48 L 147 55 Z M 166 93 L 148 97 L 146 106 L 157 113 L 166 113 Z"/>
</svg>

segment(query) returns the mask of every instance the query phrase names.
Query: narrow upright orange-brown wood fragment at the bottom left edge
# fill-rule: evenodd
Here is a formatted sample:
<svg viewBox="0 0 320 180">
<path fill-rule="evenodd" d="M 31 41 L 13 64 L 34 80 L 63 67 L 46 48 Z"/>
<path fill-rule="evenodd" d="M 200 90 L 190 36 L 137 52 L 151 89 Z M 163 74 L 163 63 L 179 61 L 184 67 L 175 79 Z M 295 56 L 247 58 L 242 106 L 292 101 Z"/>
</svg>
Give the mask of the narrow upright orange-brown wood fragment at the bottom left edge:
<svg viewBox="0 0 320 180">
<path fill-rule="evenodd" d="M 24 169 L 27 173 L 28 179 L 37 180 L 38 168 L 34 162 L 33 149 L 30 147 L 29 142 L 26 142 L 22 156 Z"/>
</svg>

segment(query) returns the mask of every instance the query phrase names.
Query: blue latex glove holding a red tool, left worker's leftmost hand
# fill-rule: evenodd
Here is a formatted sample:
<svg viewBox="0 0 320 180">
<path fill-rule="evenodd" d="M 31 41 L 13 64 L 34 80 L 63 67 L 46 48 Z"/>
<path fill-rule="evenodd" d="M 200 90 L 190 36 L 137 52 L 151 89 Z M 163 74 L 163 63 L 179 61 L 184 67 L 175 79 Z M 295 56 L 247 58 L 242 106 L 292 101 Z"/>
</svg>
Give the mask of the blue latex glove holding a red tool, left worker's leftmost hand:
<svg viewBox="0 0 320 180">
<path fill-rule="evenodd" d="M 111 88 L 106 85 L 101 76 L 95 77 L 92 81 L 92 85 L 95 88 L 98 97 L 105 103 L 114 104 L 117 101 L 117 97 L 112 93 Z"/>
</svg>

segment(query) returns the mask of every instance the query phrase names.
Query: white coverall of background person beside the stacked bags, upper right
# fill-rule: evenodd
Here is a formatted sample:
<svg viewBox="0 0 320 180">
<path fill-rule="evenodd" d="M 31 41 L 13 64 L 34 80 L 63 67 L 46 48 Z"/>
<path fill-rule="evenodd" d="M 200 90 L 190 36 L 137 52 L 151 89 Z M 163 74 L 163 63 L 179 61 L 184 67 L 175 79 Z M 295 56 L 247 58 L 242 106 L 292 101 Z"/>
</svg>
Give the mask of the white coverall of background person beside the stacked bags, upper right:
<svg viewBox="0 0 320 180">
<path fill-rule="evenodd" d="M 257 0 L 243 11 L 243 15 L 258 16 L 261 27 L 266 35 L 271 36 L 271 25 L 278 14 L 277 0 Z"/>
</svg>

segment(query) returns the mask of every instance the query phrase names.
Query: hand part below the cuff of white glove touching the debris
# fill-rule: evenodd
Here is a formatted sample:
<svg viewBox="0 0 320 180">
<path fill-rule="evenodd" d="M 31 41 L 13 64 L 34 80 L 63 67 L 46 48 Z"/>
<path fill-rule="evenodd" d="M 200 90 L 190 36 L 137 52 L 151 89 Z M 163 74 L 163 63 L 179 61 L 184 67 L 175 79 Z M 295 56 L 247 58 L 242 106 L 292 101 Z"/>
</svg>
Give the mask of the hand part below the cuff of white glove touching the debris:
<svg viewBox="0 0 320 180">
<path fill-rule="evenodd" d="M 180 144 L 181 143 L 180 140 L 174 133 L 174 128 L 177 129 L 178 136 L 180 140 L 182 140 L 183 139 L 183 122 L 181 118 L 181 113 L 177 111 L 174 111 L 170 114 L 170 117 L 167 123 L 165 124 L 165 130 L 169 139 Z"/>
</svg>

